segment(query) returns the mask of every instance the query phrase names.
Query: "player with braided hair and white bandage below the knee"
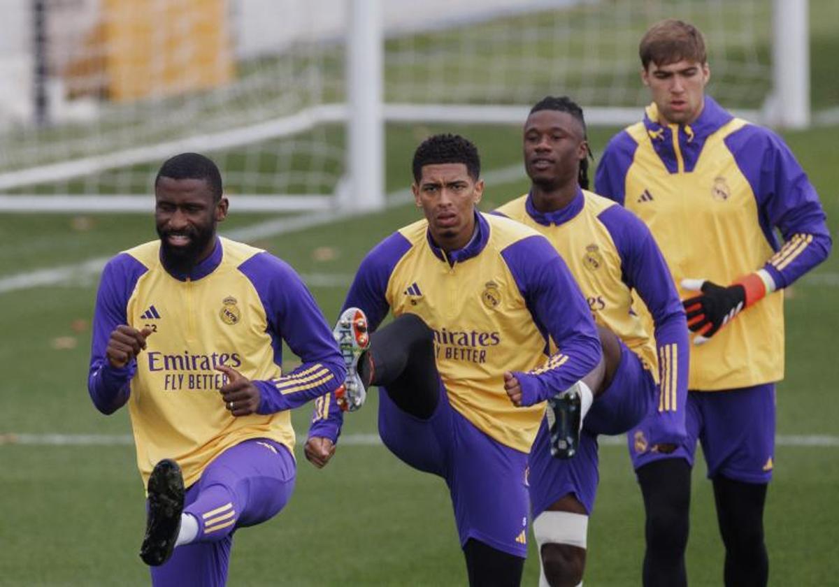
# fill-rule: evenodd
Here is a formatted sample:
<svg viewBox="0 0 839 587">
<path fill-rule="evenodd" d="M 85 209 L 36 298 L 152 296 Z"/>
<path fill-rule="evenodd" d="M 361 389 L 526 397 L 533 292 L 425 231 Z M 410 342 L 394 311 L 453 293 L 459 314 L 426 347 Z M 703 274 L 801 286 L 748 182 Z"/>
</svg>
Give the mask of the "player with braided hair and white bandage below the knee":
<svg viewBox="0 0 839 587">
<path fill-rule="evenodd" d="M 581 107 L 567 96 L 547 96 L 531 108 L 523 134 L 530 190 L 496 212 L 545 235 L 565 259 L 597 323 L 606 364 L 602 384 L 584 379 L 577 386 L 581 429 L 576 422 L 565 429 L 557 413 L 555 424 L 542 423 L 530 451 L 540 584 L 576 585 L 597 493 L 597 435 L 626 433 L 650 412 L 668 442 L 685 435 L 684 413 L 675 407 L 687 392 L 687 327 L 647 226 L 587 190 L 591 150 Z M 652 327 L 633 311 L 636 297 L 653 315 Z M 557 405 L 549 399 L 549 418 Z"/>
</svg>

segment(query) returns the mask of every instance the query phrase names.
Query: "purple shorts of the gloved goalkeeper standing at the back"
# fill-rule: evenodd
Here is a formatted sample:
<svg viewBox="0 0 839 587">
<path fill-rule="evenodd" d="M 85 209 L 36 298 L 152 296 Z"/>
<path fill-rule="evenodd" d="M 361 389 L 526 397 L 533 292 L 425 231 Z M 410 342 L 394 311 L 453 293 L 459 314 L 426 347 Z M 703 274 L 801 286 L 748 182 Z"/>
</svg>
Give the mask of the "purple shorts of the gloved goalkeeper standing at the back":
<svg viewBox="0 0 839 587">
<path fill-rule="evenodd" d="M 682 458 L 693 466 L 696 441 L 708 464 L 708 477 L 724 475 L 744 483 L 769 483 L 775 449 L 775 384 L 722 392 L 688 392 L 685 442 L 670 455 L 649 450 L 654 418 L 627 435 L 633 467 Z"/>
</svg>

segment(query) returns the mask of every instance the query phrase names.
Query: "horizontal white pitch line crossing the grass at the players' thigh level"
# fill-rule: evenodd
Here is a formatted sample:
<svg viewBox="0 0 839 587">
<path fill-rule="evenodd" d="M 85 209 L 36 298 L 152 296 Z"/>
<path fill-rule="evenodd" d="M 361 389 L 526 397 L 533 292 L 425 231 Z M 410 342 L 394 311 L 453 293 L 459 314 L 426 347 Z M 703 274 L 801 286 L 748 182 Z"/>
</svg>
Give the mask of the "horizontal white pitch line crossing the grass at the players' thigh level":
<svg viewBox="0 0 839 587">
<path fill-rule="evenodd" d="M 305 436 L 298 436 L 298 444 L 304 444 Z M 126 446 L 133 444 L 131 434 L 0 434 L 0 446 L 4 444 L 28 446 Z M 623 436 L 601 436 L 602 446 L 624 446 Z M 343 434 L 338 444 L 343 446 L 378 446 L 382 444 L 378 434 Z M 839 447 L 839 436 L 827 434 L 779 434 L 775 445 L 782 447 Z"/>
</svg>

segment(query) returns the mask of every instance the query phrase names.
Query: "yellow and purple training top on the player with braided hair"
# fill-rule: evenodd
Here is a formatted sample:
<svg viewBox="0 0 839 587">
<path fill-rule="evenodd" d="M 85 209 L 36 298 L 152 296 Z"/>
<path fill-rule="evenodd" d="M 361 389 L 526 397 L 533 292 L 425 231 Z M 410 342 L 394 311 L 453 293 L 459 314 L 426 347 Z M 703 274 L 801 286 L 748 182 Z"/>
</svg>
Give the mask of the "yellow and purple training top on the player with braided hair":
<svg viewBox="0 0 839 587">
<path fill-rule="evenodd" d="M 659 383 L 661 426 L 684 435 L 689 355 L 685 310 L 644 222 L 612 200 L 579 188 L 561 210 L 540 212 L 525 194 L 496 213 L 545 235 L 571 270 L 597 324 L 618 335 Z M 633 301 L 652 314 L 654 336 Z"/>
</svg>

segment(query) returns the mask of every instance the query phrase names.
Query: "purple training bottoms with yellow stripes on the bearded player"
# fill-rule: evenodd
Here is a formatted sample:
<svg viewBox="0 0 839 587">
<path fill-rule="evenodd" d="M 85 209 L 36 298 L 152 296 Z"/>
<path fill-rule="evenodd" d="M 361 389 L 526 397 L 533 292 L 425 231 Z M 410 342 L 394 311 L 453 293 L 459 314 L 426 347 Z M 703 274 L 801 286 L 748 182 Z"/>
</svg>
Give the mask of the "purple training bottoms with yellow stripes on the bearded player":
<svg viewBox="0 0 839 587">
<path fill-rule="evenodd" d="M 152 567 L 152 584 L 226 584 L 232 533 L 277 515 L 294 491 L 295 475 L 294 457 L 274 440 L 245 440 L 221 453 L 186 491 L 184 512 L 199 525 L 195 542 Z"/>
</svg>

